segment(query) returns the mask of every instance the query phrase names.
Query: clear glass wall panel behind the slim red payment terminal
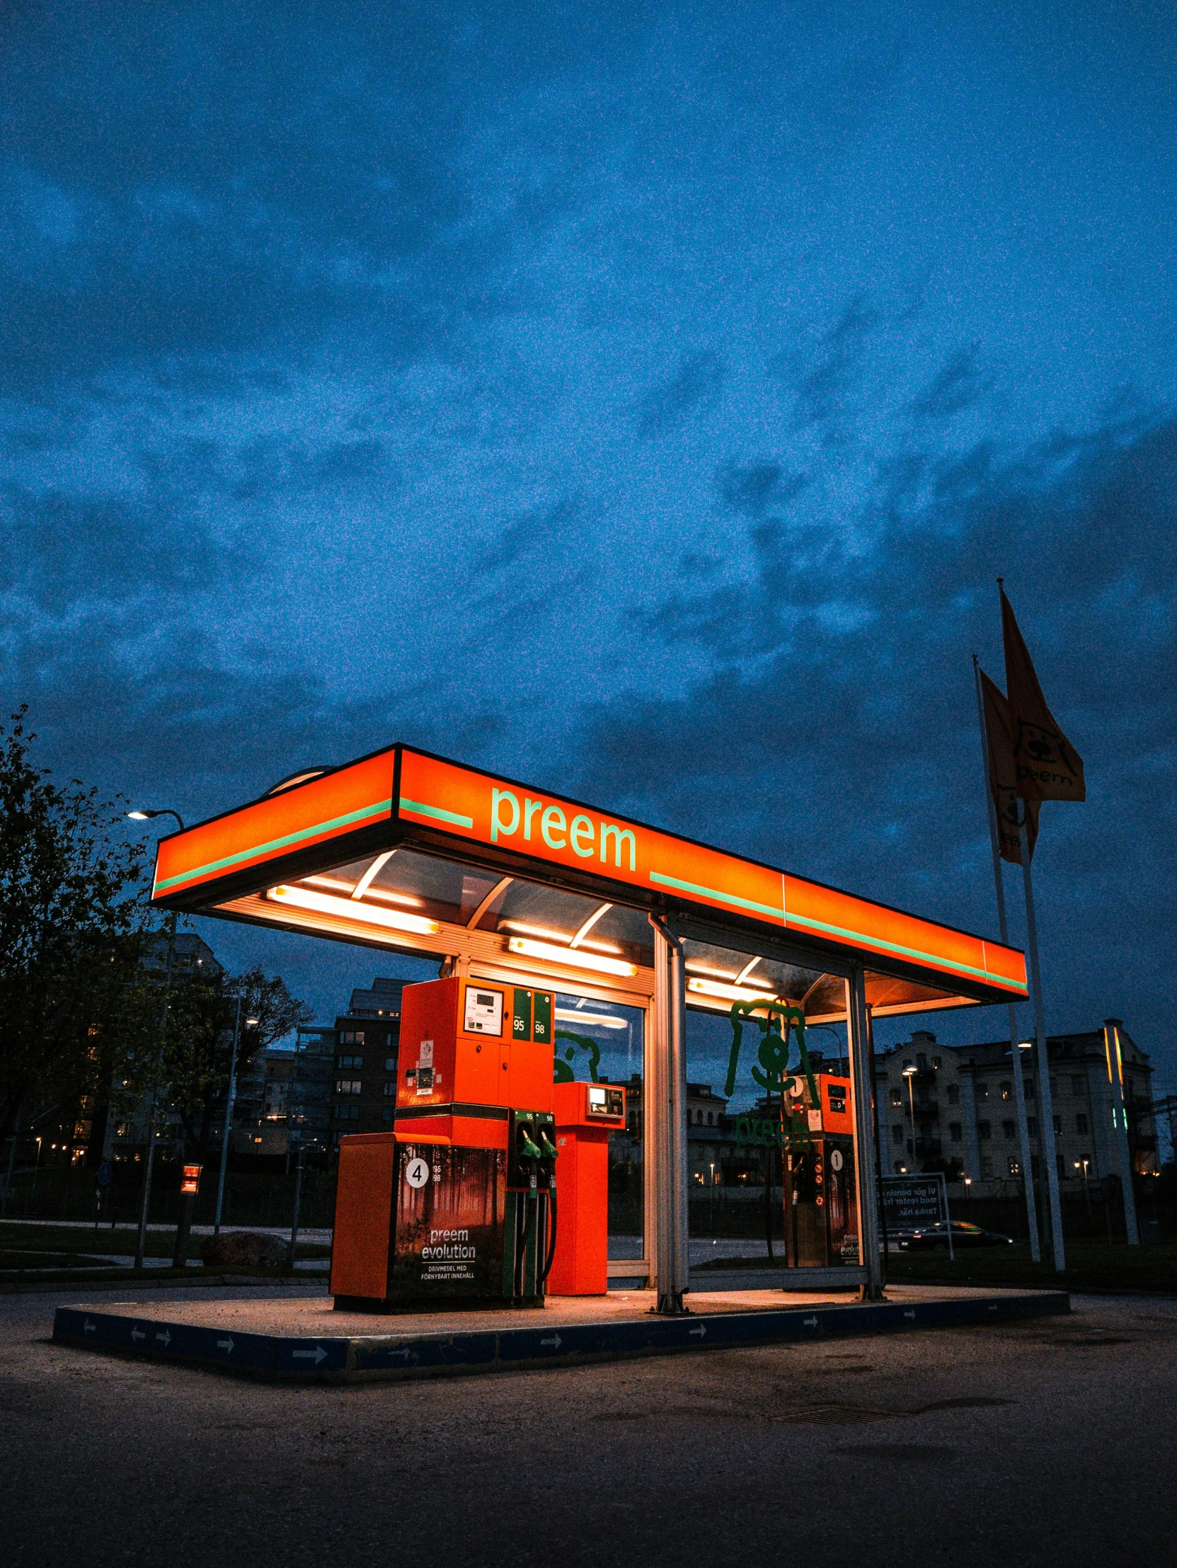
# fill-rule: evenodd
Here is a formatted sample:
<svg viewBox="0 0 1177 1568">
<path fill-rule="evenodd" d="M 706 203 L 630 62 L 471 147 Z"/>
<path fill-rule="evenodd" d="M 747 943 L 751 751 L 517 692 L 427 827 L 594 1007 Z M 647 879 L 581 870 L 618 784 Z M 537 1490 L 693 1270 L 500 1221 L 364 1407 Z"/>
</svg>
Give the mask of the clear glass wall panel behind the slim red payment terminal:
<svg viewBox="0 0 1177 1568">
<path fill-rule="evenodd" d="M 643 1077 L 646 1014 L 638 1007 L 556 994 L 556 1082 L 621 1083 L 625 1132 L 610 1134 L 610 1258 L 646 1256 Z"/>
</svg>

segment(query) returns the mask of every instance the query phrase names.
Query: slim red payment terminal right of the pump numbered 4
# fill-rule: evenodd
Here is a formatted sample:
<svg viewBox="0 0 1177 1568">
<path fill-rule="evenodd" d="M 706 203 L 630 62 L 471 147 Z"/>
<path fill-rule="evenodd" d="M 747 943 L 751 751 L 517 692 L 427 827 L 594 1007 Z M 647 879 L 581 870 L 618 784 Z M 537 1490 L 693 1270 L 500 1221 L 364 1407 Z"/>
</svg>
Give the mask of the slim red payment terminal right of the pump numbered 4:
<svg viewBox="0 0 1177 1568">
<path fill-rule="evenodd" d="M 625 1127 L 625 1090 L 556 1083 L 560 1226 L 547 1278 L 552 1295 L 603 1295 L 608 1287 L 610 1132 Z"/>
</svg>

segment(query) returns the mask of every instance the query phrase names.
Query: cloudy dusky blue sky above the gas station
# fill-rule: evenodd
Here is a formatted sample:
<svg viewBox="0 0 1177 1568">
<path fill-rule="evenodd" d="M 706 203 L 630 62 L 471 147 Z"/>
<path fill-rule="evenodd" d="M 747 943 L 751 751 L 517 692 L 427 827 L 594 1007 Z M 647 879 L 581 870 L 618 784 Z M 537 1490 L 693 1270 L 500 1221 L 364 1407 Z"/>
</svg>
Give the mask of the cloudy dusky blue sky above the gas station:
<svg viewBox="0 0 1177 1568">
<path fill-rule="evenodd" d="M 196 820 L 401 739 L 994 933 L 1005 572 L 1089 781 L 1048 1029 L 1177 1066 L 1171 5 L 0 38 L 0 649 L 55 767 Z M 406 967 L 201 928 L 320 1016 Z"/>
</svg>

